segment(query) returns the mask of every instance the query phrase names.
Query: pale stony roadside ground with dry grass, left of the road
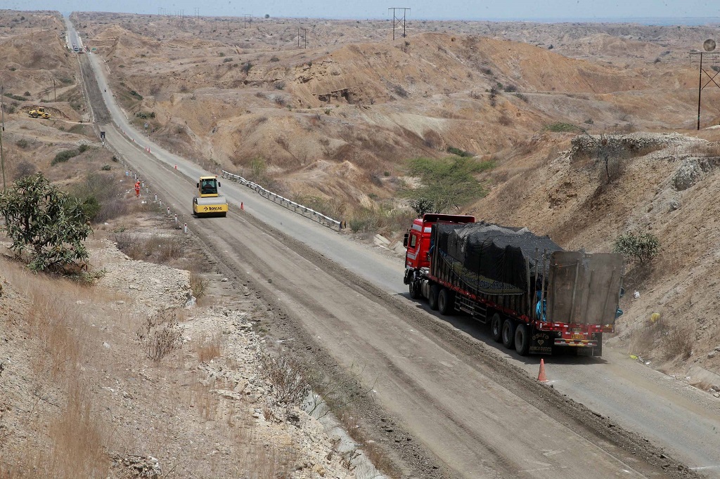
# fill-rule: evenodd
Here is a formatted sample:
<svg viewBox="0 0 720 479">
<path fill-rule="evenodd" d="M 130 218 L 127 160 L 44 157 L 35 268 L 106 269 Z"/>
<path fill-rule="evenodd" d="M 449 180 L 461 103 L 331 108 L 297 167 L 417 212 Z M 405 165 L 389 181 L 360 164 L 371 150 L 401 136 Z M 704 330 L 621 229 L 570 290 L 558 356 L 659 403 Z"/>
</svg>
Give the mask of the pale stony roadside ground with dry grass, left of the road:
<svg viewBox="0 0 720 479">
<path fill-rule="evenodd" d="M 194 291 L 187 270 L 131 260 L 109 240 L 179 235 L 170 263 L 202 270 Z M 90 246 L 105 270 L 94 286 L 0 258 L 2 477 L 355 477 L 354 453 L 264 379 L 257 331 L 269 316 L 252 291 L 161 217 L 106 224 Z M 148 321 L 181 347 L 150 359 L 138 339 Z"/>
</svg>

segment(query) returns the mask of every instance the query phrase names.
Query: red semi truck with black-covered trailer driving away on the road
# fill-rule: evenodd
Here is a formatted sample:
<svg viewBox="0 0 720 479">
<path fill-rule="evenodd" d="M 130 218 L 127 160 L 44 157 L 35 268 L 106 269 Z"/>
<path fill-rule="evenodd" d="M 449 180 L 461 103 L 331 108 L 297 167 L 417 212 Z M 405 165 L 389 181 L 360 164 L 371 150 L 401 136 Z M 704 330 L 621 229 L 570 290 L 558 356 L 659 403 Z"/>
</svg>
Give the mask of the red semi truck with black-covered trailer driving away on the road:
<svg viewBox="0 0 720 479">
<path fill-rule="evenodd" d="M 622 311 L 624 258 L 564 251 L 526 228 L 425 214 L 405 234 L 405 284 L 441 314 L 464 311 L 520 355 L 600 356 Z"/>
</svg>

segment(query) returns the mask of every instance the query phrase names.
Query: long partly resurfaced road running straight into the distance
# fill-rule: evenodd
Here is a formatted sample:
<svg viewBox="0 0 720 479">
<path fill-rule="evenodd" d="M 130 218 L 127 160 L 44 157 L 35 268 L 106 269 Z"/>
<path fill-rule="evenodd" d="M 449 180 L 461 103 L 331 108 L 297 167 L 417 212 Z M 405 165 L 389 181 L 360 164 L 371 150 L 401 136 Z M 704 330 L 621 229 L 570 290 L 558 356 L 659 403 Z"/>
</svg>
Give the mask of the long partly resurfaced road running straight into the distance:
<svg viewBox="0 0 720 479">
<path fill-rule="evenodd" d="M 382 411 L 397 420 L 374 427 L 389 436 L 408 477 L 680 477 L 655 445 L 720 477 L 720 414 L 707 395 L 608 349 L 601 359 L 548 358 L 554 390 L 539 386 L 532 381 L 539 358 L 503 350 L 463 316 L 438 318 L 409 301 L 402 258 L 234 183 L 222 182 L 233 205 L 228 218 L 190 217 L 194 182 L 209 172 L 134 132 L 112 101 L 102 60 L 87 59 L 117 124 L 102 127 L 109 144 L 231 270 L 253 278 L 284 311 L 290 325 L 279 332 L 297 334 L 288 339 L 318 347 L 320 360 L 355 370 L 372 386 Z M 618 426 L 639 434 L 601 431 Z M 412 446 L 395 445 L 398 437 Z"/>
</svg>

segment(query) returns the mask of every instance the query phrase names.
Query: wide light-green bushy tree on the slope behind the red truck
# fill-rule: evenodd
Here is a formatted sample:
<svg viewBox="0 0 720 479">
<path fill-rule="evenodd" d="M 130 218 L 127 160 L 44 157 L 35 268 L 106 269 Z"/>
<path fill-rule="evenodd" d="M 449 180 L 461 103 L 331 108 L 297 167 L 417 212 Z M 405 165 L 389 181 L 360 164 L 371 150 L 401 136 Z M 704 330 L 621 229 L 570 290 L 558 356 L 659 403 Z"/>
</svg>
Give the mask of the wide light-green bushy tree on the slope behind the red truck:
<svg viewBox="0 0 720 479">
<path fill-rule="evenodd" d="M 419 176 L 421 186 L 404 194 L 416 202 L 423 200 L 432 204 L 436 213 L 459 209 L 469 201 L 485 196 L 485 188 L 474 178 L 474 174 L 494 165 L 490 161 L 459 156 L 439 160 L 415 158 L 408 162 L 408 173 Z M 418 210 L 415 208 L 415 211 Z"/>
</svg>

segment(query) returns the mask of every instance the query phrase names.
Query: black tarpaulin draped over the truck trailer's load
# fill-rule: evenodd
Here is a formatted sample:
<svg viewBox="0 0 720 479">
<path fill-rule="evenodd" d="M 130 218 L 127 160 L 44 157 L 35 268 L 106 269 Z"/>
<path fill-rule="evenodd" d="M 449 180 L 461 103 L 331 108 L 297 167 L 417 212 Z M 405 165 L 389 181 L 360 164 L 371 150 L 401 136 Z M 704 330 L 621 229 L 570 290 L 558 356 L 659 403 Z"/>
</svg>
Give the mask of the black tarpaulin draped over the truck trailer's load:
<svg viewBox="0 0 720 479">
<path fill-rule="evenodd" d="M 451 265 L 468 289 L 487 294 L 526 293 L 526 260 L 534 281 L 538 273 L 547 274 L 550 254 L 562 251 L 549 237 L 537 236 L 527 228 L 486 222 L 437 223 L 433 225 L 432 238 L 440 260 Z M 539 272 L 543 264 L 545 271 Z M 531 286 L 534 290 L 534 285 Z"/>
</svg>

